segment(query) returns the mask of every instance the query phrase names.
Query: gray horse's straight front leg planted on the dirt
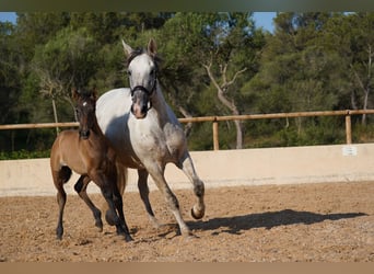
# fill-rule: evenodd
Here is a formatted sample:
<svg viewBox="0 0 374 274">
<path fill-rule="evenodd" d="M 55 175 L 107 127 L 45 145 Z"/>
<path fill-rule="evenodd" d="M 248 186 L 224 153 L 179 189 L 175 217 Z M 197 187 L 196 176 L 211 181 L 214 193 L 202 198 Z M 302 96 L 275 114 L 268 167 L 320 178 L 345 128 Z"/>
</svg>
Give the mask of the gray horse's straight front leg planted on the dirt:
<svg viewBox="0 0 374 274">
<path fill-rule="evenodd" d="M 192 236 L 191 231 L 189 230 L 188 226 L 182 217 L 178 199 L 166 183 L 164 176 L 164 169 L 161 169 L 156 163 L 148 164 L 145 165 L 145 168 L 148 172 L 151 174 L 153 181 L 157 185 L 161 193 L 164 195 L 171 212 L 173 213 L 175 219 L 178 222 L 180 233 L 184 236 Z"/>
</svg>

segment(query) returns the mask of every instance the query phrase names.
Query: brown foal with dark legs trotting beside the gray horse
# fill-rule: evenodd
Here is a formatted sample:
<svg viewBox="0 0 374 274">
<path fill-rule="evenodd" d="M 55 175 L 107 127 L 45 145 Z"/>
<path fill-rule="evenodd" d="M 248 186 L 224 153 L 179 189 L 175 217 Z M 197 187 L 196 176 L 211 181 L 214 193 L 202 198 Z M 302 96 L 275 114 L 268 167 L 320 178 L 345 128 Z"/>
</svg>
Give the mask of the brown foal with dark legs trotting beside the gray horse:
<svg viewBox="0 0 374 274">
<path fill-rule="evenodd" d="M 73 99 L 77 101 L 79 130 L 61 132 L 50 152 L 50 170 L 59 205 L 57 238 L 62 239 L 63 235 L 62 216 L 67 201 L 63 184 L 69 181 L 73 170 L 81 174 L 74 190 L 92 210 L 96 227 L 103 230 L 101 210 L 86 194 L 86 186 L 91 180 L 101 189 L 107 202 L 108 210 L 105 215 L 107 222 L 116 226 L 117 233 L 124 235 L 126 241 L 131 241 L 132 238 L 125 221 L 122 197 L 117 187 L 116 155 L 96 121 L 96 93 L 73 90 Z"/>
</svg>

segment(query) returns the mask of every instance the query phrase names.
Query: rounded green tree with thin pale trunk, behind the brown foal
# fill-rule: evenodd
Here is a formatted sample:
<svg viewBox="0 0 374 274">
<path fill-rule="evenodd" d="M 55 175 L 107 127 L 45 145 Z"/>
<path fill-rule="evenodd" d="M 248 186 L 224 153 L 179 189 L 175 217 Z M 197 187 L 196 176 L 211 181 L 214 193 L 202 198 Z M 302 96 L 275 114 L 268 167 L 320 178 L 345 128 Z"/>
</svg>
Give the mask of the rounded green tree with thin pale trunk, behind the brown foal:
<svg viewBox="0 0 374 274">
<path fill-rule="evenodd" d="M 51 99 L 55 122 L 58 122 L 56 101 L 66 100 L 73 107 L 73 87 L 89 85 L 96 71 L 97 44 L 85 28 L 62 28 L 43 46 L 38 46 L 32 60 L 34 72 L 39 78 L 40 93 Z"/>
</svg>

